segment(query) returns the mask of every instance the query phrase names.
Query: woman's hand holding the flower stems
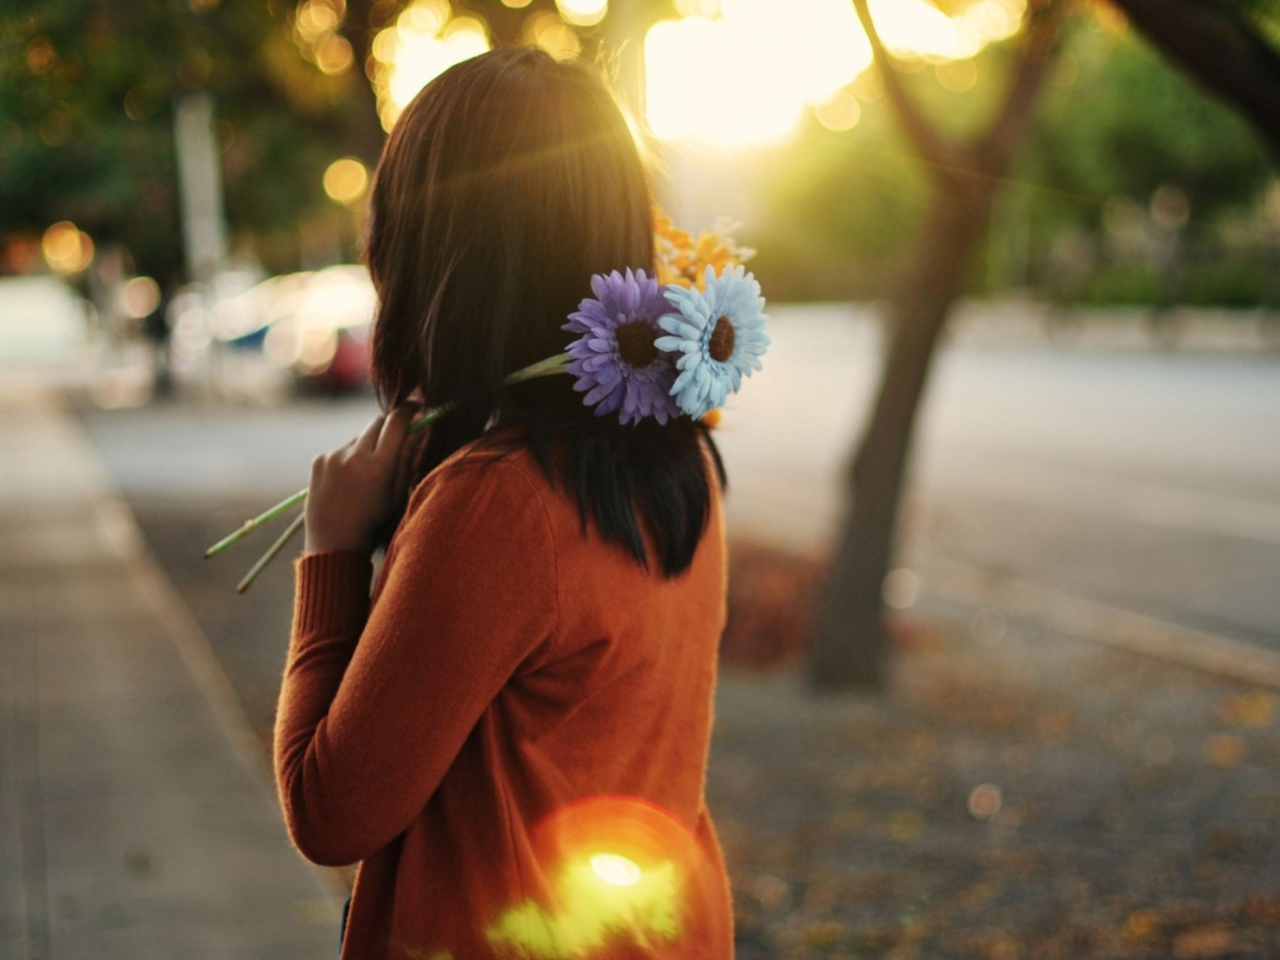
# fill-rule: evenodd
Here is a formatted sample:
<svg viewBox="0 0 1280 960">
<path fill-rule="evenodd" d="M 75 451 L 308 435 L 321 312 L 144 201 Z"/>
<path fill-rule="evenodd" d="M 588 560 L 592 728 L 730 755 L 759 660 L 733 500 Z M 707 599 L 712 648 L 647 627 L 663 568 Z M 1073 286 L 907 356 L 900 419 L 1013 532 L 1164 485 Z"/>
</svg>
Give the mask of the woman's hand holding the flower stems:
<svg viewBox="0 0 1280 960">
<path fill-rule="evenodd" d="M 396 508 L 397 468 L 413 413 L 413 407 L 397 407 L 351 443 L 312 461 L 306 553 L 372 554 Z"/>
</svg>

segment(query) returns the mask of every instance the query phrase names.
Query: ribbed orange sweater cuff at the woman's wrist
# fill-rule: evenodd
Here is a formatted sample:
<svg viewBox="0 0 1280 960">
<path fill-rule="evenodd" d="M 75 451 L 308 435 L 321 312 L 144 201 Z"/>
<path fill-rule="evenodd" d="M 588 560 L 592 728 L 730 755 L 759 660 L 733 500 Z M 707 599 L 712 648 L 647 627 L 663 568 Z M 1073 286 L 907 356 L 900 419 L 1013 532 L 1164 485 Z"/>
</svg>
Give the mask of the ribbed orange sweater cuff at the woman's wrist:
<svg viewBox="0 0 1280 960">
<path fill-rule="evenodd" d="M 374 564 L 358 553 L 308 553 L 294 564 L 293 637 L 357 639 L 369 620 Z"/>
</svg>

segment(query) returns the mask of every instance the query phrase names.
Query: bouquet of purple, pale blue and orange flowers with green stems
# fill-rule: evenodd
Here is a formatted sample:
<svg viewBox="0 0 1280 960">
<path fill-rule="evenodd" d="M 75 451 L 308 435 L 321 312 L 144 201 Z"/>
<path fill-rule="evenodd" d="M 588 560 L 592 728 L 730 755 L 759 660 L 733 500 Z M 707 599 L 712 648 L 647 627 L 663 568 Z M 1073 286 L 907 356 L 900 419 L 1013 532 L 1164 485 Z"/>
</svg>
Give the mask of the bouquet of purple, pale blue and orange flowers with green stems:
<svg viewBox="0 0 1280 960">
<path fill-rule="evenodd" d="M 718 221 L 695 241 L 654 211 L 655 275 L 614 270 L 591 278 L 591 293 L 568 315 L 562 329 L 576 334 L 564 353 L 506 378 L 516 384 L 552 374 L 575 376 L 573 389 L 596 416 L 617 415 L 623 424 L 654 417 L 714 415 L 742 378 L 760 369 L 769 346 L 768 316 L 760 284 L 742 262 L 755 251 L 739 247 L 733 224 Z M 421 430 L 453 410 L 426 411 L 410 426 Z M 306 499 L 300 490 L 236 532 L 210 547 L 214 557 Z M 284 534 L 241 580 L 244 593 L 302 527 L 298 515 Z"/>
</svg>

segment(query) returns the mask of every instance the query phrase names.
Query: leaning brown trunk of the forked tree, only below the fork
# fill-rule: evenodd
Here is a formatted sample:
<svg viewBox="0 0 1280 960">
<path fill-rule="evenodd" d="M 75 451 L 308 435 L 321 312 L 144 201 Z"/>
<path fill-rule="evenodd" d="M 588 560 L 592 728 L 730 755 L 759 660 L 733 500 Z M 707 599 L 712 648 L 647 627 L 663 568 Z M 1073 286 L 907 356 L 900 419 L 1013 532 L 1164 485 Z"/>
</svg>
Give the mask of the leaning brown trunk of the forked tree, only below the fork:
<svg viewBox="0 0 1280 960">
<path fill-rule="evenodd" d="M 890 307 L 890 348 L 876 408 L 847 472 L 850 515 L 818 609 L 812 680 L 819 690 L 877 690 L 887 680 L 881 590 L 893 554 L 915 412 L 993 198 L 989 179 L 940 174 L 934 183 L 923 246 Z"/>
</svg>

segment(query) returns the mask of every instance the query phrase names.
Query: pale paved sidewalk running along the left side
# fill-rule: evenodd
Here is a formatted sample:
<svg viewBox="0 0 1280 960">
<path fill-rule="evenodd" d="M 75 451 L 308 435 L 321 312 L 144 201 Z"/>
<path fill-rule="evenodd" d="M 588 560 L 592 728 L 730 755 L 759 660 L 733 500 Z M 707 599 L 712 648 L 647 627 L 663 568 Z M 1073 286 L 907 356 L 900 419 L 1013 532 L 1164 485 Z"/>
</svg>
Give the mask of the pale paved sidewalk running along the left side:
<svg viewBox="0 0 1280 960">
<path fill-rule="evenodd" d="M 0 380 L 0 956 L 325 957 L 339 909 L 78 424 Z"/>
</svg>

